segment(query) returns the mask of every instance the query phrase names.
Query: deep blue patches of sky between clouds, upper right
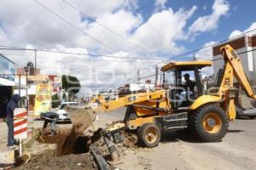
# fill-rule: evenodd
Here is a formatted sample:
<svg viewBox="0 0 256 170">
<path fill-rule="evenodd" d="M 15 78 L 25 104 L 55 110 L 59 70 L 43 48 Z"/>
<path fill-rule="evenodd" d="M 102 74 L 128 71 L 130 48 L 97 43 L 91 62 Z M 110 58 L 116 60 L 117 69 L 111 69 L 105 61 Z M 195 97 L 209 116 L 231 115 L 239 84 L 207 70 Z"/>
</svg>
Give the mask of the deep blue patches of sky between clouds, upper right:
<svg viewBox="0 0 256 170">
<path fill-rule="evenodd" d="M 179 8 L 191 8 L 196 5 L 198 8 L 195 14 L 188 20 L 187 28 L 198 17 L 212 13 L 213 0 L 168 0 L 166 8 L 172 8 L 177 11 Z M 218 21 L 218 28 L 214 31 L 202 32 L 195 41 L 180 41 L 186 50 L 190 51 L 196 48 L 201 48 L 206 42 L 218 42 L 230 36 L 234 30 L 246 30 L 254 21 L 256 21 L 256 1 L 253 0 L 227 0 L 230 3 L 230 11 Z M 143 18 L 148 20 L 148 17 L 154 13 L 154 0 L 138 1 L 138 10 L 142 12 Z"/>
</svg>

